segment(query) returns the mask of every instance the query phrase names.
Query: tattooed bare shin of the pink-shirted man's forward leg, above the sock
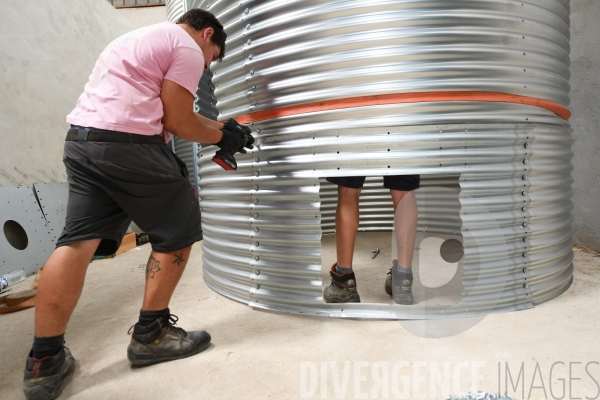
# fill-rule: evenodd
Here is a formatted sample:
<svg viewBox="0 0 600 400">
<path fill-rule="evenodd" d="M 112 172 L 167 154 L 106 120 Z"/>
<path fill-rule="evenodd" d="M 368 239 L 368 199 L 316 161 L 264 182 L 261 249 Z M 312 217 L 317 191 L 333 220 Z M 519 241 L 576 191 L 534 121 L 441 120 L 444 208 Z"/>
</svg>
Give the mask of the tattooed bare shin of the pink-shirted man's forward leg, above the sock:
<svg viewBox="0 0 600 400">
<path fill-rule="evenodd" d="M 164 310 L 169 306 L 191 250 L 190 246 L 168 253 L 153 251 L 150 254 L 146 264 L 146 290 L 142 310 Z"/>
</svg>

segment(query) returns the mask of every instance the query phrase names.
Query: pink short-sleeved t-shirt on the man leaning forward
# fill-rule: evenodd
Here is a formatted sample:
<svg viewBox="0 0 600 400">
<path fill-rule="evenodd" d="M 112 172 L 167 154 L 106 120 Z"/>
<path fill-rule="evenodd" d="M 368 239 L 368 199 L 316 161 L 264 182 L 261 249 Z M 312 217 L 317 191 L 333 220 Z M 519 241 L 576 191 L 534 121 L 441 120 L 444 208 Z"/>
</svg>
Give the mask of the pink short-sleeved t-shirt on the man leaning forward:
<svg viewBox="0 0 600 400">
<path fill-rule="evenodd" d="M 157 135 L 162 125 L 160 90 L 168 79 L 196 94 L 204 56 L 192 37 L 172 22 L 137 29 L 115 39 L 96 65 L 67 116 L 73 125 Z"/>
</svg>

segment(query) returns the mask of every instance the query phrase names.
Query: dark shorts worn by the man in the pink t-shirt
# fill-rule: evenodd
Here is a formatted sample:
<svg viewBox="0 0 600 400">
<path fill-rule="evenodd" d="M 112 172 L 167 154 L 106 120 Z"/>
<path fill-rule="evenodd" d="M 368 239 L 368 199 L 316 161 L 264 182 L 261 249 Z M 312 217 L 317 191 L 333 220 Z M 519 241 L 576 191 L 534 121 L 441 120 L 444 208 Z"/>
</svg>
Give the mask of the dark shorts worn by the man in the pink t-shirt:
<svg viewBox="0 0 600 400">
<path fill-rule="evenodd" d="M 56 247 L 99 238 L 96 255 L 114 254 L 131 220 L 157 252 L 202 240 L 185 164 L 166 144 L 66 141 L 63 161 L 69 201 Z"/>
</svg>

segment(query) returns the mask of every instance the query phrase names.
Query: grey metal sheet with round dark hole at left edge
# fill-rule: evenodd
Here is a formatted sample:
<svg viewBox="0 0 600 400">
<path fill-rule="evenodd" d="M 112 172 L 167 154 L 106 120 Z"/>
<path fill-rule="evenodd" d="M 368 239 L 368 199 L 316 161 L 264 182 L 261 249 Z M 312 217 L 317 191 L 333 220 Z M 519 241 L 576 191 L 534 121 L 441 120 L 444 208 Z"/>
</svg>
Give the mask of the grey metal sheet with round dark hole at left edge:
<svg viewBox="0 0 600 400">
<path fill-rule="evenodd" d="M 0 275 L 19 269 L 31 275 L 44 266 L 55 240 L 31 188 L 0 187 L 0 224 Z"/>
</svg>

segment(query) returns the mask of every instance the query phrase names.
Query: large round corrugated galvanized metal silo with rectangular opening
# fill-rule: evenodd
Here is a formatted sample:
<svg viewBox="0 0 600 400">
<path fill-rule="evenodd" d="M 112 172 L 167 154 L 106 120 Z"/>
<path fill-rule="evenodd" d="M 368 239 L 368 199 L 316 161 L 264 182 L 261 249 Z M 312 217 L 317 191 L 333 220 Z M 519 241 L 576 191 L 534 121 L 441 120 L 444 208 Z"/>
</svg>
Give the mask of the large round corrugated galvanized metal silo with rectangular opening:
<svg viewBox="0 0 600 400">
<path fill-rule="evenodd" d="M 566 0 L 212 0 L 228 53 L 220 118 L 306 102 L 492 91 L 569 104 Z M 252 125 L 238 171 L 199 153 L 207 284 L 253 307 L 337 317 L 447 318 L 532 307 L 572 281 L 572 139 L 552 112 L 511 103 L 365 106 Z M 366 175 L 360 229 L 390 229 L 382 175 L 421 174 L 419 235 L 464 245 L 455 305 L 324 304 L 327 176 Z M 446 237 L 444 236 L 444 237 Z"/>
</svg>

